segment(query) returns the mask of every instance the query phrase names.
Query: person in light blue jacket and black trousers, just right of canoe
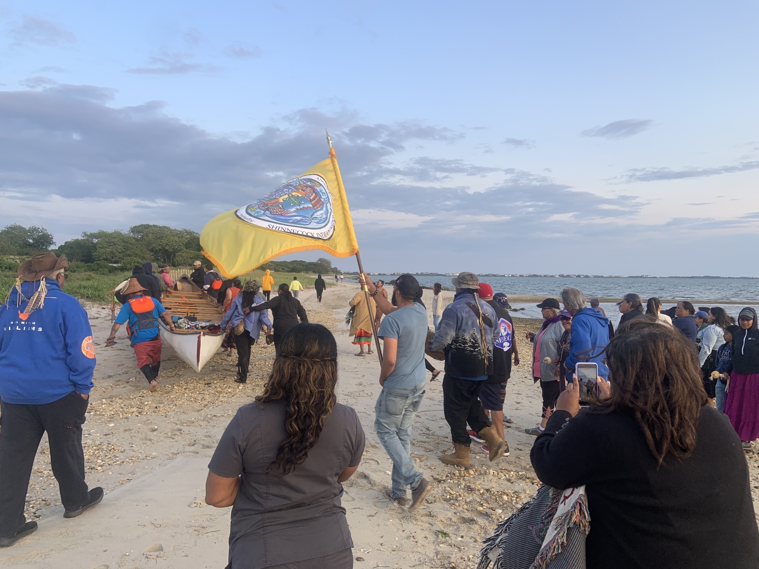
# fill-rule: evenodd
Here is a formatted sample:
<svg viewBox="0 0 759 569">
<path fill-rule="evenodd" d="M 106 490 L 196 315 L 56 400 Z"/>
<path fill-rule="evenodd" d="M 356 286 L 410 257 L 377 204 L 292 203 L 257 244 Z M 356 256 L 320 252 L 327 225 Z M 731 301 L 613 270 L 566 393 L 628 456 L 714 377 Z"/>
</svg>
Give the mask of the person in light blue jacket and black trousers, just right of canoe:
<svg viewBox="0 0 759 569">
<path fill-rule="evenodd" d="M 238 294 L 229 305 L 229 310 L 222 318 L 221 327 L 226 329 L 228 334 L 235 337 L 235 347 L 238 352 L 238 376 L 235 382 L 247 382 L 247 370 L 250 367 L 250 349 L 260 338 L 263 329 L 264 334 L 272 326 L 269 320 L 269 312 L 243 313 L 243 307 L 251 307 L 256 304 L 262 304 L 263 298 L 258 296 L 258 283 L 256 281 L 247 281 L 241 294 Z M 238 326 L 242 325 L 242 330 Z M 239 333 L 238 333 L 239 332 Z"/>
</svg>

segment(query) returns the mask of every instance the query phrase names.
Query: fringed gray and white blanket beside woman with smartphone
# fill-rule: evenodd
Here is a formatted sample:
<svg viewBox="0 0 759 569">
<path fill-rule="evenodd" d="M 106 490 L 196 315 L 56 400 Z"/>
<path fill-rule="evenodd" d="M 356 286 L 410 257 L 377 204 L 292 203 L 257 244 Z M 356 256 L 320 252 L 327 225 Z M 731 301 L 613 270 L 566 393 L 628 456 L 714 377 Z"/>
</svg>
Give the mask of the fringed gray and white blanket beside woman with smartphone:
<svg viewBox="0 0 759 569">
<path fill-rule="evenodd" d="M 584 486 L 541 486 L 485 539 L 477 569 L 585 569 L 590 530 Z"/>
</svg>

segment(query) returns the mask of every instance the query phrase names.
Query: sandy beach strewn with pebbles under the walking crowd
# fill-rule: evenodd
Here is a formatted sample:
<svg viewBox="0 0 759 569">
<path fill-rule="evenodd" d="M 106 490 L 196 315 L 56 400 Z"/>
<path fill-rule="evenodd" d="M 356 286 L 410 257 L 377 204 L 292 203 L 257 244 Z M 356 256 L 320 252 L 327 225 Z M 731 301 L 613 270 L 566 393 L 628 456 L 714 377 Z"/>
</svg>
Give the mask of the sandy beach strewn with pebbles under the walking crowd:
<svg viewBox="0 0 759 569">
<path fill-rule="evenodd" d="M 409 514 L 383 497 L 391 463 L 373 428 L 379 362 L 376 356 L 354 356 L 357 349 L 344 322 L 348 300 L 358 290 L 354 283 L 335 285 L 327 289 L 323 303 L 317 303 L 313 289 L 301 293 L 310 320 L 335 333 L 339 401 L 357 410 L 367 433 L 361 466 L 345 483 L 342 501 L 355 544 L 355 565 L 475 567 L 480 540 L 534 495 L 539 484 L 529 457 L 534 438 L 522 429 L 539 421 L 540 386 L 531 378 L 531 344 L 524 332 L 537 329 L 540 321 L 515 318 L 521 365 L 513 369 L 504 409 L 514 421 L 505 429 L 511 456 L 490 464 L 487 454 L 473 444 L 473 469 L 439 462 L 438 454 L 452 445 L 442 416 L 440 382 L 428 381 L 414 423 L 412 455 L 435 486 L 427 503 Z M 452 293 L 443 294 L 446 303 L 452 300 Z M 426 292 L 428 313 L 430 299 Z M 236 354 L 228 357 L 220 351 L 195 373 L 164 347 L 160 389 L 150 393 L 123 331 L 118 344 L 104 347 L 109 310 L 87 310 L 97 356 L 96 387 L 83 426 L 87 482 L 90 487 L 103 486 L 106 496 L 92 511 L 65 520 L 43 439 L 27 501 L 27 517 L 39 520 L 39 530 L 0 550 L 0 567 L 224 567 L 231 508 L 204 504 L 207 464 L 235 410 L 263 387 L 273 347 L 254 347 L 247 385 L 233 382 Z M 431 322 L 430 316 L 430 326 Z M 748 462 L 756 510 L 757 454 L 749 454 Z"/>
</svg>

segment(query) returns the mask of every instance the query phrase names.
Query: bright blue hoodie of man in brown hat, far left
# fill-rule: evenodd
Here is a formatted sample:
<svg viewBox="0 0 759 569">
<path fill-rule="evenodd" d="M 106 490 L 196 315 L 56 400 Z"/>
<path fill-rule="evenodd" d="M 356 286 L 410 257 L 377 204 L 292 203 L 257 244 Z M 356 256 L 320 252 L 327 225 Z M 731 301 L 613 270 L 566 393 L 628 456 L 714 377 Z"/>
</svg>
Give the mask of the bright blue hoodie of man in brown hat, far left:
<svg viewBox="0 0 759 569">
<path fill-rule="evenodd" d="M 39 281 L 14 288 L 0 306 L 0 398 L 17 405 L 44 405 L 71 391 L 93 388 L 93 332 L 79 300 L 65 294 L 58 282 L 45 279 L 45 304 L 26 320 L 27 307 Z"/>
</svg>

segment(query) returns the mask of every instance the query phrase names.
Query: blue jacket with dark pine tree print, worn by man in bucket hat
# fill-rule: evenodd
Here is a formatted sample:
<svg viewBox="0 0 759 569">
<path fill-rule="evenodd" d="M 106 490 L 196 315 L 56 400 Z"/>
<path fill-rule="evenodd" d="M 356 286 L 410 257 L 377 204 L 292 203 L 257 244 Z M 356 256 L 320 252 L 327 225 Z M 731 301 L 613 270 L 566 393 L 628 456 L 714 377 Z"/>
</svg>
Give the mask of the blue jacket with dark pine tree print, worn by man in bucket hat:
<svg viewBox="0 0 759 569">
<path fill-rule="evenodd" d="M 449 376 L 484 381 L 487 376 L 493 375 L 493 341 L 498 339 L 495 334 L 498 317 L 493 307 L 484 300 L 477 299 L 477 304 L 482 310 L 485 325 L 487 366 L 474 291 L 471 289 L 456 294 L 453 302 L 442 311 L 435 337 L 430 341 L 430 350 L 445 351 L 446 373 Z"/>
</svg>

